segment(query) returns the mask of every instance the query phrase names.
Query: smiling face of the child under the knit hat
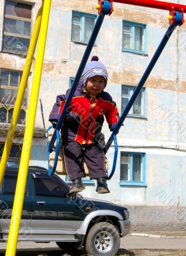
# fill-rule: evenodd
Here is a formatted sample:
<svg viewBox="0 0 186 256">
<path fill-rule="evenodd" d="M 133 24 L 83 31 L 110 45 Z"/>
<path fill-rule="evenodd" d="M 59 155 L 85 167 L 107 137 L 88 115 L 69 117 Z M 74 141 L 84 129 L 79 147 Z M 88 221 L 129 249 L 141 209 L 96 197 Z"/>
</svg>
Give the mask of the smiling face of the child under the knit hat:
<svg viewBox="0 0 186 256">
<path fill-rule="evenodd" d="M 102 76 L 93 76 L 87 80 L 87 91 L 96 95 L 101 93 L 104 89 L 105 82 Z"/>
</svg>

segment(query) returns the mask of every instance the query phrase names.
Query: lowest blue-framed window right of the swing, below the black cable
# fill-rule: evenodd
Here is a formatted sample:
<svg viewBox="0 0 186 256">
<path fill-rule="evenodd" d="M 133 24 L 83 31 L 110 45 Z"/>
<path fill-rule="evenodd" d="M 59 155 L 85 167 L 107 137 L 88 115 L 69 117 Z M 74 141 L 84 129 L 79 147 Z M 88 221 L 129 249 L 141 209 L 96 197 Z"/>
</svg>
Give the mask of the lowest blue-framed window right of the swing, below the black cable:
<svg viewBox="0 0 186 256">
<path fill-rule="evenodd" d="M 120 184 L 145 186 L 145 154 L 121 152 Z"/>
</svg>

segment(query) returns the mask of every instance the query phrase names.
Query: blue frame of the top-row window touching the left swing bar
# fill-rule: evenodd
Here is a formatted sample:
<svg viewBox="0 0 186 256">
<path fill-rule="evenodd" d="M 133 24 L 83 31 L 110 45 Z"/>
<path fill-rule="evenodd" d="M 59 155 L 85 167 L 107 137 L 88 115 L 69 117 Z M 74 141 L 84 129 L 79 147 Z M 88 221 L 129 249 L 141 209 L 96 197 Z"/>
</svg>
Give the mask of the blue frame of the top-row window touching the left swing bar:
<svg viewBox="0 0 186 256">
<path fill-rule="evenodd" d="M 73 40 L 72 39 L 72 34 L 73 34 L 73 15 L 78 15 L 78 16 L 81 16 L 81 24 L 82 24 L 82 40 L 78 41 L 78 40 Z M 74 43 L 78 43 L 78 44 L 85 44 L 87 45 L 89 43 L 88 42 L 85 42 L 85 17 L 93 17 L 94 18 L 94 26 L 96 24 L 96 20 L 97 20 L 97 15 L 95 14 L 92 14 L 92 13 L 85 13 L 85 12 L 78 12 L 78 11 L 72 11 L 72 19 L 71 19 L 71 42 L 74 42 Z M 94 45 L 96 45 L 96 42 L 94 43 Z"/>
</svg>

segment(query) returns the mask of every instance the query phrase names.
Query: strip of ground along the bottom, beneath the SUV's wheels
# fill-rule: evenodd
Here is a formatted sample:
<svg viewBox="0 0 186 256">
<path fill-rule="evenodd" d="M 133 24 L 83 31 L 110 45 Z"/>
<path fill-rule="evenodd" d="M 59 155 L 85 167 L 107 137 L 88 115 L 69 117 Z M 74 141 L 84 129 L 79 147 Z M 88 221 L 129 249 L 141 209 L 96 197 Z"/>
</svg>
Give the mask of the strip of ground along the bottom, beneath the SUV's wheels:
<svg viewBox="0 0 186 256">
<path fill-rule="evenodd" d="M 186 232 L 131 233 L 122 237 L 117 256 L 186 256 Z M 4 256 L 6 243 L 0 243 L 0 256 Z M 54 243 L 17 244 L 17 256 L 78 256 L 64 253 Z M 80 253 L 81 256 L 90 256 Z"/>
</svg>

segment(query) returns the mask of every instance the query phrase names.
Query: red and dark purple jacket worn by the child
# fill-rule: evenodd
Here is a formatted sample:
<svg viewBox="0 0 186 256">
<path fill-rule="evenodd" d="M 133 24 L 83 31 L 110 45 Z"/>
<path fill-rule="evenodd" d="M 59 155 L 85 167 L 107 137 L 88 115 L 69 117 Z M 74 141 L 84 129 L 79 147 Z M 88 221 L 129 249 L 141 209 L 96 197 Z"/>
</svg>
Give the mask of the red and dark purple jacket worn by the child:
<svg viewBox="0 0 186 256">
<path fill-rule="evenodd" d="M 68 92 L 66 95 L 57 96 L 49 116 L 50 121 L 59 120 Z M 110 94 L 103 91 L 96 96 L 90 95 L 85 89 L 83 90 L 83 84 L 80 81 L 61 127 L 62 138 L 81 144 L 87 143 L 87 145 L 96 143 L 101 134 L 104 116 L 112 131 L 118 122 L 119 115 Z"/>
</svg>

